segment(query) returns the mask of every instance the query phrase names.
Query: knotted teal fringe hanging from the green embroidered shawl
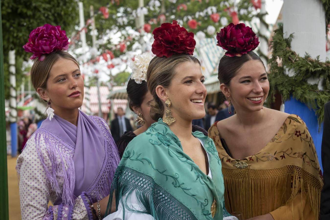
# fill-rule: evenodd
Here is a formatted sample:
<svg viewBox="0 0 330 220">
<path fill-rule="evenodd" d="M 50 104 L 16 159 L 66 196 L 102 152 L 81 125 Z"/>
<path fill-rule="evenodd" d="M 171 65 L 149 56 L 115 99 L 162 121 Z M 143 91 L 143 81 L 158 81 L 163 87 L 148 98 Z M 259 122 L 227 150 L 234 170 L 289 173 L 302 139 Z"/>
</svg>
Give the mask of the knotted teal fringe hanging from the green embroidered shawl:
<svg viewBox="0 0 330 220">
<path fill-rule="evenodd" d="M 129 205 L 130 196 L 134 191 L 138 204 L 143 210 L 134 209 Z M 192 210 L 159 186 L 152 177 L 125 166 L 117 168 L 110 195 L 113 193 L 116 197 L 116 210 L 118 210 L 119 202 L 123 206 L 123 220 L 125 209 L 130 212 L 149 214 L 156 220 L 197 220 Z M 126 198 L 122 199 L 123 196 Z M 112 203 L 110 199 L 106 216 L 110 214 Z"/>
</svg>

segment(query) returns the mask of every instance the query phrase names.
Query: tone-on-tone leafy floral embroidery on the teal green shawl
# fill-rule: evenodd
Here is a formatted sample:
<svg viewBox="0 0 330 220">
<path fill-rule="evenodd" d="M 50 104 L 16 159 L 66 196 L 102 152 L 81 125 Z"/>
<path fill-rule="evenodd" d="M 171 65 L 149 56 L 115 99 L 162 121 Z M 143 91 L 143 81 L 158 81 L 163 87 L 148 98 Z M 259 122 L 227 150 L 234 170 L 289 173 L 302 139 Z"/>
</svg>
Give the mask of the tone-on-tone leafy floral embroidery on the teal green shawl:
<svg viewBox="0 0 330 220">
<path fill-rule="evenodd" d="M 190 166 L 190 172 L 195 175 L 196 182 L 199 182 L 201 185 L 205 185 L 206 181 L 209 182 L 209 180 L 204 177 L 205 174 L 198 168 L 198 166 L 189 157 L 187 157 L 182 152 L 182 150 L 178 150 L 178 148 L 175 147 L 175 144 L 181 146 L 180 140 L 168 129 L 167 126 L 165 126 L 164 129 L 159 130 L 157 129 L 157 124 L 154 123 L 148 128 L 148 130 L 144 134 L 150 137 L 149 143 L 154 145 L 154 147 L 161 147 L 162 149 L 165 149 L 167 151 L 168 155 L 171 158 L 179 160 L 179 162 L 188 164 Z M 195 137 L 199 136 L 196 135 Z M 203 138 L 205 138 L 204 135 Z M 213 141 L 209 138 L 205 139 L 205 149 L 209 154 L 215 156 L 215 158 L 218 160 L 218 165 L 221 166 L 221 161 L 218 157 L 218 153 L 215 149 Z M 191 197 L 192 200 L 196 201 L 197 205 L 200 207 L 201 213 L 203 214 L 203 216 L 205 216 L 205 219 L 213 219 L 211 209 L 209 207 L 212 201 L 210 202 L 207 197 L 202 196 L 201 198 L 201 195 L 195 195 L 196 193 L 193 193 L 189 183 L 185 182 L 185 179 L 183 179 L 182 176 L 179 175 L 179 173 L 173 173 L 171 172 L 171 170 L 156 166 L 156 164 L 154 164 L 151 159 L 147 158 L 146 156 L 143 156 L 142 153 L 137 153 L 134 150 L 126 149 L 122 158 L 131 161 L 139 161 L 142 164 L 149 165 L 149 167 L 151 167 L 152 170 L 156 171 L 156 173 L 159 173 L 164 176 L 165 182 L 169 181 L 169 183 L 172 183 L 173 187 L 181 189 L 183 193 Z M 210 161 L 211 158 L 214 159 L 213 157 L 210 157 Z M 218 205 L 220 205 L 220 207 L 222 206 L 222 204 Z"/>
</svg>

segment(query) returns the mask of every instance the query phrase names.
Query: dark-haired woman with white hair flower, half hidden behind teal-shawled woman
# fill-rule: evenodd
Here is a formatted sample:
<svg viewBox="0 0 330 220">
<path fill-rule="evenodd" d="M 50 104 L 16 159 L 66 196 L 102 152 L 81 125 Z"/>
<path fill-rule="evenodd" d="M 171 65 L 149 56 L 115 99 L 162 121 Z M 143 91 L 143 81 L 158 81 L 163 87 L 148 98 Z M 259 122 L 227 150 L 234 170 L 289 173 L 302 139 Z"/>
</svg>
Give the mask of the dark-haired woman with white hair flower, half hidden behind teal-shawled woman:
<svg viewBox="0 0 330 220">
<path fill-rule="evenodd" d="M 116 142 L 120 158 L 128 143 L 137 135 L 145 132 L 152 123 L 156 122 L 150 116 L 152 95 L 148 91 L 146 76 L 151 58 L 150 54 L 143 53 L 135 56 L 134 61 L 130 65 L 132 76 L 128 81 L 126 91 L 129 98 L 129 108 L 138 115 L 136 121 L 140 127 L 135 131 L 126 131 Z M 207 135 L 207 131 L 197 125 L 192 125 L 192 131 L 200 131 Z"/>
</svg>

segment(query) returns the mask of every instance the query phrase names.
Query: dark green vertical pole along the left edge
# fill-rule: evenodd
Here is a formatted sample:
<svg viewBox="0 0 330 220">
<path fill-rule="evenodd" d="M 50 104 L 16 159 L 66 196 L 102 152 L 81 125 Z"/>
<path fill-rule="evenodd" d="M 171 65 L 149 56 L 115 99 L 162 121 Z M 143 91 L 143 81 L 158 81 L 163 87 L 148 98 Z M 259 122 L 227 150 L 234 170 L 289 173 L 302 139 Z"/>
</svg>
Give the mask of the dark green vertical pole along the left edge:
<svg viewBox="0 0 330 220">
<path fill-rule="evenodd" d="M 3 69 L 2 19 L 0 0 L 0 219 L 8 220 L 7 139 L 5 119 L 5 74 Z"/>
</svg>

